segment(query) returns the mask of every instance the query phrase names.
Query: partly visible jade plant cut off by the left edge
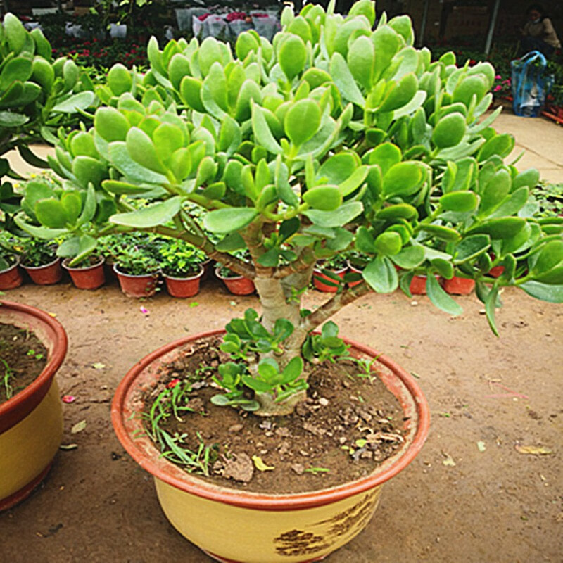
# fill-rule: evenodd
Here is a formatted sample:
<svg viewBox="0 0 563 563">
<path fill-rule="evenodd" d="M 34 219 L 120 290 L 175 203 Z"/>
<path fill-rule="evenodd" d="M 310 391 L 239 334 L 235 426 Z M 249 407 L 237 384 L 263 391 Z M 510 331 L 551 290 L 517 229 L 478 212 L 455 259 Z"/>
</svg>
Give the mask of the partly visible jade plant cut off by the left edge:
<svg viewBox="0 0 563 563">
<path fill-rule="evenodd" d="M 42 31 L 28 32 L 8 13 L 0 25 L 0 157 L 18 149 L 32 166 L 49 167 L 30 144 L 56 142 L 58 127 L 76 124 L 79 111 L 96 101 L 87 73 L 74 61 L 53 61 Z M 17 232 L 12 217 L 21 195 L 4 177 L 18 178 L 7 158 L 0 158 L 0 227 Z"/>
</svg>

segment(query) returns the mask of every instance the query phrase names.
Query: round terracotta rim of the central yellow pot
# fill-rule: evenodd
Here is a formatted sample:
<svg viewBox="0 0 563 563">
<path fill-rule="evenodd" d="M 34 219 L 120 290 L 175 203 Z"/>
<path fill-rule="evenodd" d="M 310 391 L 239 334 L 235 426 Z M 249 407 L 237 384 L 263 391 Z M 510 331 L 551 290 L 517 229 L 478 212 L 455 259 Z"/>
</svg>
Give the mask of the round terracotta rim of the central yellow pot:
<svg viewBox="0 0 563 563">
<path fill-rule="evenodd" d="M 129 369 L 129 372 L 127 372 L 115 391 L 115 396 L 111 405 L 111 418 L 115 434 L 117 434 L 119 441 L 125 450 L 127 450 L 127 453 L 129 453 L 129 455 L 131 455 L 131 457 L 143 469 L 151 473 L 156 479 L 160 479 L 171 486 L 179 488 L 181 491 L 185 491 L 208 500 L 223 502 L 228 505 L 247 507 L 257 510 L 298 510 L 326 505 L 330 502 L 336 502 L 379 486 L 407 467 L 407 465 L 415 459 L 419 451 L 422 449 L 422 445 L 424 445 L 424 441 L 426 440 L 426 436 L 429 431 L 430 410 L 428 403 L 426 402 L 426 398 L 422 394 L 422 391 L 415 379 L 412 378 L 405 369 L 396 364 L 396 362 L 387 358 L 386 355 L 379 354 L 372 348 L 363 346 L 355 341 L 344 339 L 346 343 L 355 346 L 355 348 L 357 348 L 360 352 L 377 357 L 381 364 L 386 366 L 388 369 L 391 369 L 397 379 L 405 386 L 407 392 L 413 400 L 413 403 L 415 404 L 415 409 L 418 415 L 418 424 L 415 429 L 415 434 L 412 437 L 412 442 L 407 446 L 407 449 L 404 450 L 403 453 L 399 454 L 398 457 L 391 462 L 388 467 L 383 470 L 376 470 L 369 476 L 332 488 L 305 493 L 284 493 L 279 495 L 239 491 L 205 483 L 205 481 L 201 481 L 196 477 L 191 477 L 189 474 L 186 474 L 184 479 L 179 479 L 176 476 L 164 472 L 163 469 L 160 469 L 158 464 L 153 461 L 150 453 L 146 453 L 144 449 L 137 446 L 125 428 L 125 420 L 122 415 L 122 410 L 127 401 L 129 390 L 134 385 L 138 375 L 143 372 L 148 365 L 151 365 L 152 362 L 158 360 L 161 356 L 179 346 L 184 345 L 185 343 L 188 343 L 189 341 L 205 338 L 207 336 L 216 336 L 223 333 L 224 329 L 218 329 L 195 334 L 194 336 L 184 336 L 182 339 L 158 348 L 137 362 L 134 367 Z M 158 454 L 156 446 L 154 447 L 154 452 Z M 163 460 L 159 461 L 162 462 Z M 171 464 L 171 462 L 166 463 Z"/>
</svg>

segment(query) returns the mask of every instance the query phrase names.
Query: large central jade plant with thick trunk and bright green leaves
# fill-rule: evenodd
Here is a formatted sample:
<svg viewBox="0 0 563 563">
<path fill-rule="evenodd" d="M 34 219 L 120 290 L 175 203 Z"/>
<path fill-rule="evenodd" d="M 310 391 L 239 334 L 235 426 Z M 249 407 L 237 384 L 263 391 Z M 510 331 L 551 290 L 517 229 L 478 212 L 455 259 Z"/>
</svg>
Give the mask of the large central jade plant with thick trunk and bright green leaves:
<svg viewBox="0 0 563 563">
<path fill-rule="evenodd" d="M 281 23 L 272 43 L 243 32 L 234 53 L 152 38 L 145 75 L 115 65 L 94 126 L 59 135 L 63 189 L 29 184 L 18 225 L 72 234 L 59 252 L 76 258 L 101 234 L 156 232 L 253 279 L 262 310 L 227 326 L 215 401 L 258 415 L 304 398 L 303 358 L 345 353 L 334 323 L 312 331 L 369 291 L 409 293 L 425 274 L 431 301 L 458 315 L 436 275 L 471 278 L 495 332 L 505 286 L 562 301 L 562 220 L 535 216 L 538 172 L 505 163 L 514 138 L 491 127 L 500 110 L 485 115 L 489 63 L 433 61 L 407 16 L 375 25 L 369 0 L 347 17 L 334 2 L 285 8 Z M 245 248 L 249 260 L 232 253 Z M 361 283 L 335 279 L 304 310 L 317 261 L 348 251 L 365 259 Z"/>
</svg>

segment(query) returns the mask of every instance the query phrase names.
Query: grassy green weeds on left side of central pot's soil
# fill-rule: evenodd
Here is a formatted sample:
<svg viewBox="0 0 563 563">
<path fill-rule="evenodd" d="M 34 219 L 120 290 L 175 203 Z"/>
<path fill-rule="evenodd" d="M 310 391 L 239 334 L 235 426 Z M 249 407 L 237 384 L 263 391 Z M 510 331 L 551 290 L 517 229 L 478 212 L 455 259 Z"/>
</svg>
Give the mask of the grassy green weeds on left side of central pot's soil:
<svg viewBox="0 0 563 563">
<path fill-rule="evenodd" d="M 146 431 L 152 440 L 160 447 L 161 456 L 176 464 L 184 466 L 186 472 L 209 475 L 209 467 L 217 459 L 216 448 L 207 446 L 201 436 L 198 438 L 198 449 L 192 451 L 185 445 L 187 434 L 170 434 L 163 429 L 166 419 L 174 417 L 182 422 L 182 413 L 194 412 L 186 406 L 191 391 L 189 381 L 173 381 L 170 388 L 161 391 L 146 413 Z"/>
</svg>

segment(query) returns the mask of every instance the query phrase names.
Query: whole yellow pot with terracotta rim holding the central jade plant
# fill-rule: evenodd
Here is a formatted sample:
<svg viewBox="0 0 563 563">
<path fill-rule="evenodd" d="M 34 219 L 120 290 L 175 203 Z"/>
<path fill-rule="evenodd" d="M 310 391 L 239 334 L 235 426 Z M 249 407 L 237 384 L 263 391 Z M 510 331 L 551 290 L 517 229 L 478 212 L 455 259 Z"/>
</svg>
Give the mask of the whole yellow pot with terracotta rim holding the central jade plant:
<svg viewBox="0 0 563 563">
<path fill-rule="evenodd" d="M 213 331 L 188 336 L 138 362 L 122 380 L 111 416 L 123 447 L 151 473 L 160 505 L 172 526 L 208 555 L 224 562 L 319 561 L 367 526 L 381 486 L 412 462 L 429 429 L 429 408 L 410 374 L 371 348 L 346 341 L 350 352 L 377 358 L 381 380 L 403 406 L 405 444 L 367 477 L 310 493 L 267 495 L 215 486 L 160 456 L 139 413 L 142 396 L 160 377 L 158 367 L 179 348 Z"/>
</svg>

